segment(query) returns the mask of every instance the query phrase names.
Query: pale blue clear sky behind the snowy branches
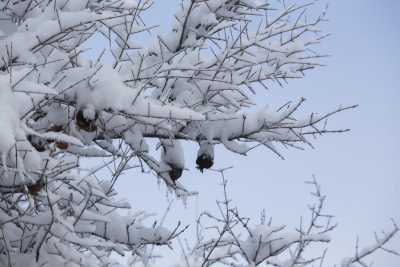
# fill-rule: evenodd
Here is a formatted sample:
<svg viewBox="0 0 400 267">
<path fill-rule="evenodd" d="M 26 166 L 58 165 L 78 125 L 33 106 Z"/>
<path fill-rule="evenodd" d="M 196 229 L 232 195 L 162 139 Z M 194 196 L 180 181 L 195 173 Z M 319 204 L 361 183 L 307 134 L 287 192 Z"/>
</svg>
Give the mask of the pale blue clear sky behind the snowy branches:
<svg viewBox="0 0 400 267">
<path fill-rule="evenodd" d="M 179 2 L 155 0 L 148 24 L 167 29 Z M 297 226 L 299 217 L 308 215 L 310 188 L 304 181 L 316 175 L 328 195 L 327 211 L 339 223 L 328 251 L 329 266 L 352 255 L 357 236 L 368 244 L 373 231 L 391 226 L 391 217 L 400 223 L 399 10 L 398 0 L 331 1 L 325 29 L 332 36 L 322 46 L 332 55 L 324 61 L 327 66 L 283 89 L 276 86 L 257 95 L 259 103 L 284 103 L 304 96 L 305 111 L 359 104 L 357 110 L 331 120 L 331 126 L 351 128 L 351 132 L 321 137 L 315 140 L 315 149 L 283 151 L 284 161 L 263 148 L 247 157 L 221 149 L 216 153 L 217 168 L 235 167 L 227 175 L 231 197 L 242 214 L 255 222 L 265 208 L 277 224 Z M 168 223 L 177 218 L 193 223 L 199 211 L 215 210 L 215 200 L 222 196 L 219 176 L 195 169 L 194 148 L 188 146 L 189 171 L 181 179 L 200 195 L 187 207 L 175 202 Z M 117 188 L 134 208 L 162 214 L 168 205 L 164 186 L 159 187 L 151 175 L 132 172 L 121 177 Z M 392 244 L 400 249 L 400 238 Z M 400 266 L 400 258 L 387 254 L 372 260 L 375 266 Z"/>
</svg>

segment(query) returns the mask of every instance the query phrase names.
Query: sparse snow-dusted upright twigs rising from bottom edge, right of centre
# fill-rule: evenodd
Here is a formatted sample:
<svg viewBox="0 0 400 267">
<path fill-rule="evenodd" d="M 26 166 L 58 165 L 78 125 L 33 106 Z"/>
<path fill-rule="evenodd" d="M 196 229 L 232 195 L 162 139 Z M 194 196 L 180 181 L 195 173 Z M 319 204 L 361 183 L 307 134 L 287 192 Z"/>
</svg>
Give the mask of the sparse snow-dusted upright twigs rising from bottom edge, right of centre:
<svg viewBox="0 0 400 267">
<path fill-rule="evenodd" d="M 232 205 L 227 193 L 224 170 L 221 171 L 224 199 L 218 202 L 219 214 L 203 212 L 197 220 L 197 242 L 185 252 L 180 266 L 311 266 L 323 257 L 305 258 L 304 251 L 319 243 L 329 243 L 330 233 L 336 228 L 332 216 L 324 214 L 325 197 L 315 186 L 316 204 L 310 206 L 310 221 L 301 221 L 293 231 L 284 225 L 266 221 L 253 224 Z M 187 265 L 190 262 L 190 265 Z"/>
</svg>

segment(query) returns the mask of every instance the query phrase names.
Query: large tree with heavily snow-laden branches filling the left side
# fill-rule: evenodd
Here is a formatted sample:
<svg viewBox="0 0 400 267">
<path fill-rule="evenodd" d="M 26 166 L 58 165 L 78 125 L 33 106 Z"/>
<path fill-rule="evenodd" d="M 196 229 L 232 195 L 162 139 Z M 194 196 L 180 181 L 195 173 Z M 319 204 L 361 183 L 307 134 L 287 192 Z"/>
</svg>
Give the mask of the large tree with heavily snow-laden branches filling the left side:
<svg viewBox="0 0 400 267">
<path fill-rule="evenodd" d="M 353 107 L 302 117 L 304 99 L 254 104 L 260 88 L 320 66 L 325 14 L 307 16 L 314 4 L 184 0 L 170 30 L 141 44 L 136 37 L 154 28 L 142 19 L 150 0 L 0 1 L 1 264 L 107 266 L 112 252 L 168 245 L 180 225 L 122 216 L 129 205 L 114 185 L 137 168 L 190 195 L 177 181 L 184 141 L 200 145 L 203 171 L 218 144 L 242 155 L 263 145 L 283 157 L 279 145 L 346 131 L 326 121 Z M 92 37 L 107 44 L 96 58 L 85 54 Z M 161 159 L 149 139 L 160 142 Z M 101 163 L 88 169 L 88 158 Z M 104 170 L 110 177 L 99 177 Z"/>
</svg>

